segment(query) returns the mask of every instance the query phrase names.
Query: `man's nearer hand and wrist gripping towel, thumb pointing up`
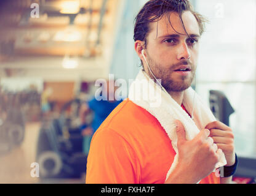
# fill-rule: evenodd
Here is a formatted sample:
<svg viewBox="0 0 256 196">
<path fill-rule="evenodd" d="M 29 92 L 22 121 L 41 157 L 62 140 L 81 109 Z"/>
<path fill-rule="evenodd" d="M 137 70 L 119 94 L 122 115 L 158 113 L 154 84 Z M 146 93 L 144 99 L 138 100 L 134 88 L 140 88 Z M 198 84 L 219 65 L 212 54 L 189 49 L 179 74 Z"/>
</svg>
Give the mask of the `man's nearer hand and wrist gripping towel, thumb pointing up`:
<svg viewBox="0 0 256 196">
<path fill-rule="evenodd" d="M 212 138 L 209 138 L 208 129 L 202 129 L 193 140 L 186 140 L 182 123 L 178 120 L 175 123 L 178 164 L 166 183 L 198 183 L 212 173 L 215 165 L 220 161 L 222 150 L 217 149 Z"/>
</svg>

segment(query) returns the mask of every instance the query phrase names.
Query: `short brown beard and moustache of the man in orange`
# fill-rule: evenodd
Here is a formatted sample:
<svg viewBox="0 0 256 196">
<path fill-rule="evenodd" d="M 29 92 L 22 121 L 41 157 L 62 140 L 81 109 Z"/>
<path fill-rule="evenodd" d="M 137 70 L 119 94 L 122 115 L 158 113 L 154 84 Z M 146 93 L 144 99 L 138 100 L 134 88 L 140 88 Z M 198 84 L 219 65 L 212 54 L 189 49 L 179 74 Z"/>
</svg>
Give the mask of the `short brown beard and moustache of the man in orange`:
<svg viewBox="0 0 256 196">
<path fill-rule="evenodd" d="M 179 62 L 178 64 L 172 64 L 171 66 L 165 68 L 161 66 L 161 64 L 157 64 L 156 62 L 153 62 L 153 60 L 148 56 L 148 63 L 150 65 L 150 69 L 154 74 L 154 77 L 156 77 L 156 79 L 161 79 L 161 85 L 166 89 L 167 92 L 185 91 L 186 89 L 190 88 L 191 83 L 194 80 L 196 66 L 191 64 L 190 61 L 184 60 Z M 191 76 L 189 78 L 188 76 L 180 76 L 180 79 L 178 81 L 175 81 L 175 79 L 172 78 L 171 75 L 174 72 L 174 70 L 178 69 L 178 67 L 182 65 L 190 66 Z M 148 74 L 151 75 L 150 72 Z M 153 78 L 152 75 L 151 75 L 151 78 Z"/>
</svg>

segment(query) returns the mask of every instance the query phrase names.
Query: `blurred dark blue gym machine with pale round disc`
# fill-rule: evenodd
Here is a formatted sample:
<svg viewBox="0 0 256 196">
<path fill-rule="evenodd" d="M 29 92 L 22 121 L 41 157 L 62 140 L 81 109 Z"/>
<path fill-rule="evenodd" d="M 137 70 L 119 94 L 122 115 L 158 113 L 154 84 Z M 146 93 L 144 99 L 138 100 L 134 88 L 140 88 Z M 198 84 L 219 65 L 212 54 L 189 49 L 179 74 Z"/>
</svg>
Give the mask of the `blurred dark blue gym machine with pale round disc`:
<svg viewBox="0 0 256 196">
<path fill-rule="evenodd" d="M 82 152 L 83 137 L 79 127 L 73 123 L 78 108 L 79 100 L 71 100 L 62 108 L 60 118 L 42 125 L 36 154 L 41 179 L 80 178 L 86 173 L 87 157 Z M 67 115 L 68 111 L 71 116 Z"/>
</svg>

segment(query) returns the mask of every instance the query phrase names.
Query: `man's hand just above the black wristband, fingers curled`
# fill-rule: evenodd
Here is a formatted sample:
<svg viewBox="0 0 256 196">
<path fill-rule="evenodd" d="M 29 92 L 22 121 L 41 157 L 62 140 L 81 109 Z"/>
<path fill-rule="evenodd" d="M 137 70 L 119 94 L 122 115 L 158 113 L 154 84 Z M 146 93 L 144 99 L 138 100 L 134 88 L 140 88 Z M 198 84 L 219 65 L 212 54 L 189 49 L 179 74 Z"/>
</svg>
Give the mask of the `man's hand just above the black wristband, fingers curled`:
<svg viewBox="0 0 256 196">
<path fill-rule="evenodd" d="M 220 121 L 214 121 L 205 127 L 210 130 L 210 137 L 218 148 L 222 149 L 226 157 L 226 166 L 234 165 L 236 161 L 234 152 L 234 135 L 232 129 Z"/>
</svg>

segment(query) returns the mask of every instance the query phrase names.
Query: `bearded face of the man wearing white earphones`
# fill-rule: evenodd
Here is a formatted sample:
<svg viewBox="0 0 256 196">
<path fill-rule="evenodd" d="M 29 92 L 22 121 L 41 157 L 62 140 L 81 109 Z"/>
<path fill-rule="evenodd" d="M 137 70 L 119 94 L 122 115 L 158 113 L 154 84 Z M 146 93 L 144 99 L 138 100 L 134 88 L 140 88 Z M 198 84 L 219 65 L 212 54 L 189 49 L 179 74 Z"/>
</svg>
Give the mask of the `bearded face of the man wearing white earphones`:
<svg viewBox="0 0 256 196">
<path fill-rule="evenodd" d="M 192 39 L 187 36 L 175 12 L 170 13 L 172 26 L 167 17 L 151 23 L 151 31 L 146 39 L 145 56 L 148 64 L 168 92 L 189 88 L 196 71 L 200 38 L 198 21 L 190 11 L 183 12 L 182 20 Z M 151 75 L 145 61 L 143 65 L 147 74 Z"/>
</svg>

